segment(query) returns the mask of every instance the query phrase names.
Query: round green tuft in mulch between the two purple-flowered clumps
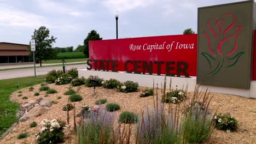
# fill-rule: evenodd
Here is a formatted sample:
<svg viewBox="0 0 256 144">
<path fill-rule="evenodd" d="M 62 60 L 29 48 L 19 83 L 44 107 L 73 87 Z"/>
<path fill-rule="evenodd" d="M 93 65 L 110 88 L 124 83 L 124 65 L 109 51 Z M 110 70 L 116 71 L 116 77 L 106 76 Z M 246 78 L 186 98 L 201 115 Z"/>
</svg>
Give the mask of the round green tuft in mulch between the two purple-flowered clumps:
<svg viewBox="0 0 256 144">
<path fill-rule="evenodd" d="M 136 123 L 138 116 L 135 113 L 124 111 L 119 115 L 118 121 L 121 123 Z"/>
</svg>

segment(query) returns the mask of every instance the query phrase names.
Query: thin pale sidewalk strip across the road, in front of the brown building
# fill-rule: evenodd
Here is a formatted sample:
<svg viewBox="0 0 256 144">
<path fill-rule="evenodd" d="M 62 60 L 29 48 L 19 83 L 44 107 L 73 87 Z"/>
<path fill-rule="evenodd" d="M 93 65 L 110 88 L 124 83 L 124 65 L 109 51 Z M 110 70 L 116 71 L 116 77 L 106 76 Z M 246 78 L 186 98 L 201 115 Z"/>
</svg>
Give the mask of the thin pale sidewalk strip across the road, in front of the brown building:
<svg viewBox="0 0 256 144">
<path fill-rule="evenodd" d="M 66 64 L 74 64 L 74 63 L 84 63 L 84 62 L 73 62 L 73 63 L 66 63 Z M 62 63 L 42 63 L 42 66 L 45 65 L 58 65 Z M 40 66 L 39 63 L 36 63 L 36 67 Z M 13 65 L 0 65 L 0 69 L 9 69 L 9 68 L 25 68 L 25 67 L 34 67 L 34 64 L 13 64 Z"/>
</svg>

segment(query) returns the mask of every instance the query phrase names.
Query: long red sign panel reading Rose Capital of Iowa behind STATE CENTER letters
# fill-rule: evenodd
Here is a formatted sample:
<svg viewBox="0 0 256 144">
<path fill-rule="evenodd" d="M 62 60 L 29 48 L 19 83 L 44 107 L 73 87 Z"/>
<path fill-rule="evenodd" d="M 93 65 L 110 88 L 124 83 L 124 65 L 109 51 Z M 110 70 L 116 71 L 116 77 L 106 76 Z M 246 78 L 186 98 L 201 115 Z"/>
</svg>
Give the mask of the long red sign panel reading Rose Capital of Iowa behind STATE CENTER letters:
<svg viewBox="0 0 256 144">
<path fill-rule="evenodd" d="M 88 69 L 196 76 L 197 35 L 89 41 Z"/>
</svg>

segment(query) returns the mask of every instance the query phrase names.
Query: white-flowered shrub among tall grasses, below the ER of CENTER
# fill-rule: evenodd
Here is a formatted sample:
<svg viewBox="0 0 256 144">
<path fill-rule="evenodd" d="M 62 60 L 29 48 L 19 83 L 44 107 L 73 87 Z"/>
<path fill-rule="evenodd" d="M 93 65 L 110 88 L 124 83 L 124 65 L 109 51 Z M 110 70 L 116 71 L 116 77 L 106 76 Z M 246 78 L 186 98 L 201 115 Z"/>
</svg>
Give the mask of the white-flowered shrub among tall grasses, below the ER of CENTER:
<svg viewBox="0 0 256 144">
<path fill-rule="evenodd" d="M 179 103 L 187 97 L 187 93 L 182 90 L 172 90 L 165 93 L 165 103 Z"/>
</svg>

